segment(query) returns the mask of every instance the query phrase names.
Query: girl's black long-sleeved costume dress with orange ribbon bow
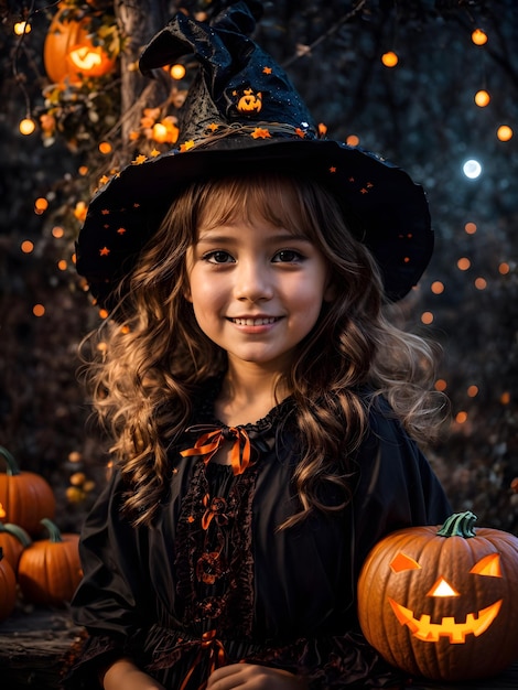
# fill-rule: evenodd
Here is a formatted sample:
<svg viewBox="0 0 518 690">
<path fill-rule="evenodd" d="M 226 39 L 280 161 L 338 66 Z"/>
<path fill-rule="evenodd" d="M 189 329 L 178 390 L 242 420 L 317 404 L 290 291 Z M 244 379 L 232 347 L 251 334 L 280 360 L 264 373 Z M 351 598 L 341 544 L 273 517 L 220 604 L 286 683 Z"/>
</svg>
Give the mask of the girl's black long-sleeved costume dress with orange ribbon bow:
<svg viewBox="0 0 518 690">
<path fill-rule="evenodd" d="M 347 507 L 278 530 L 299 508 L 294 402 L 234 430 L 241 464 L 231 466 L 180 453 L 233 436 L 214 419 L 214 399 L 171 451 L 170 490 L 151 528 L 121 517 L 128 487 L 117 472 L 87 518 L 73 610 L 89 636 L 66 687 L 98 688 L 99 670 L 121 656 L 168 690 L 203 688 L 212 670 L 239 660 L 304 675 L 312 689 L 390 684 L 396 677 L 358 632 L 355 582 L 381 537 L 450 514 L 427 460 L 376 403 L 370 432 L 341 467 L 354 471 Z M 327 504 L 343 500 L 331 484 L 323 492 Z"/>
</svg>

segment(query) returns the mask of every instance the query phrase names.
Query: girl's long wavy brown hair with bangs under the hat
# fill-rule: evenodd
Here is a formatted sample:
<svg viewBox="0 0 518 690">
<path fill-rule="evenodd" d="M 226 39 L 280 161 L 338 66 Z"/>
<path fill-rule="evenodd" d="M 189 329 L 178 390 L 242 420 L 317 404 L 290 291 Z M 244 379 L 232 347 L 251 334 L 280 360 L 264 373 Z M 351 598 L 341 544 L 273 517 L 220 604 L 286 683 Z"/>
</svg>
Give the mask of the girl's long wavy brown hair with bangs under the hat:
<svg viewBox="0 0 518 690">
<path fill-rule="evenodd" d="M 301 449 L 294 473 L 301 509 L 287 525 L 348 500 L 348 474 L 335 459 L 350 457 L 359 446 L 369 401 L 384 396 L 420 441 L 441 424 L 445 402 L 432 386 L 434 345 L 387 317 L 377 265 L 356 239 L 361 228 L 345 219 L 333 194 L 315 181 L 272 173 L 199 182 L 176 196 L 120 283 L 111 317 L 85 341 L 87 387 L 131 487 L 126 509 L 136 525 L 152 521 L 171 481 L 168 450 L 190 422 L 193 395 L 227 366 L 226 353 L 201 331 L 186 299 L 187 249 L 202 220 L 207 227 L 256 214 L 302 231 L 324 256 L 334 291 L 290 370 L 280 375 L 295 401 Z M 343 504 L 322 503 L 322 482 L 343 488 Z"/>
</svg>

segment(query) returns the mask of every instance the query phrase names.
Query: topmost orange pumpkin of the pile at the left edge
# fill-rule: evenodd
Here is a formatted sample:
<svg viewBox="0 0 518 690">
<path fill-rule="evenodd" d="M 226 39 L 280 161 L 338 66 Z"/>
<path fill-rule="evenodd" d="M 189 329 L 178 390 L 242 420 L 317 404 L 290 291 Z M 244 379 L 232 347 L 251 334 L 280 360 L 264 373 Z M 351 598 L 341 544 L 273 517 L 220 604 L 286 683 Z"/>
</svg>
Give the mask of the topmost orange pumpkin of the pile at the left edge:
<svg viewBox="0 0 518 690">
<path fill-rule="evenodd" d="M 0 473 L 0 504 L 7 522 L 18 525 L 31 536 L 41 530 L 40 520 L 53 518 L 56 499 L 48 483 L 34 472 L 20 472 L 11 453 L 0 446 L 7 472 Z"/>
</svg>

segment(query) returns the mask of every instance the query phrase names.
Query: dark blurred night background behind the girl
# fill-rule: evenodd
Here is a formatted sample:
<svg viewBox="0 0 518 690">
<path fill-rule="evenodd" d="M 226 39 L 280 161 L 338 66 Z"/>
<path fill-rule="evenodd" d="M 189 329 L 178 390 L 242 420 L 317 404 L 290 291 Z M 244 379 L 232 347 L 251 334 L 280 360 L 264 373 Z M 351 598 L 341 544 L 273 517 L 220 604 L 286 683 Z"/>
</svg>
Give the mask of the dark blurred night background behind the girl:
<svg viewBox="0 0 518 690">
<path fill-rule="evenodd" d="M 131 51 L 137 55 L 140 47 L 128 42 L 117 73 L 84 84 L 78 96 L 60 104 L 61 131 L 45 137 L 36 127 L 22 136 L 18 125 L 28 108 L 36 120 L 48 111 L 42 51 L 55 4 L 0 2 L 0 444 L 22 470 L 47 478 L 61 527 L 77 529 L 102 486 L 107 455 L 86 423 L 88 403 L 76 378 L 78 343 L 99 315 L 71 260 L 79 227 L 74 209 L 107 166 L 100 141 L 114 142 L 119 162 L 139 150 L 117 122 L 145 84 L 128 95 L 120 79 Z M 106 0 L 72 4 L 110 11 Z M 456 510 L 472 509 L 479 525 L 517 533 L 518 4 L 263 4 L 256 36 L 285 66 L 328 134 L 358 137 L 359 145 L 400 164 L 428 192 L 436 251 L 398 316 L 444 347 L 440 378 L 452 419 L 427 453 Z M 141 6 L 150 6 L 141 43 L 160 28 L 152 23 L 175 8 L 214 8 L 203 1 Z M 20 41 L 13 24 L 29 15 L 32 31 Z M 488 36 L 484 46 L 471 40 L 476 28 Z M 388 51 L 399 56 L 395 68 L 380 61 Z M 186 80 L 176 85 L 180 96 L 188 75 L 187 65 Z M 483 88 L 492 96 L 485 108 L 474 103 Z M 157 103 L 164 103 L 163 94 L 141 99 L 130 110 L 134 121 Z M 173 105 L 174 98 L 171 112 Z M 499 141 L 500 125 L 514 128 L 515 137 Z M 467 159 L 482 164 L 476 180 L 463 174 Z M 39 197 L 48 201 L 41 215 L 34 212 Z M 63 237 L 55 236 L 56 227 Z M 21 249 L 24 240 L 33 242 L 29 254 Z M 460 259 L 470 267 L 461 270 Z M 44 306 L 42 316 L 33 313 L 36 304 Z"/>
</svg>

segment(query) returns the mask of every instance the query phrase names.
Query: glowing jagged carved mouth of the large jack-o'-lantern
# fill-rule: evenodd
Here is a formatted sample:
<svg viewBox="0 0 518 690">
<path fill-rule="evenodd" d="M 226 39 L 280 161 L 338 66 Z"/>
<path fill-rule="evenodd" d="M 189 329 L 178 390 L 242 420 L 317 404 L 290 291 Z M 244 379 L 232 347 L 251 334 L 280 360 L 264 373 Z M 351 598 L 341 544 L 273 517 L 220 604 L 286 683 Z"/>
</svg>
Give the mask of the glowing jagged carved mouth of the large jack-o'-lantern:
<svg viewBox="0 0 518 690">
<path fill-rule="evenodd" d="M 444 617 L 441 623 L 432 623 L 429 615 L 423 614 L 419 619 L 413 617 L 413 612 L 388 597 L 392 611 L 401 625 L 407 625 L 413 636 L 425 643 L 436 643 L 440 637 L 449 637 L 454 645 L 463 644 L 466 635 L 482 635 L 498 615 L 501 602 L 495 602 L 487 608 L 482 608 L 477 614 L 468 613 L 464 623 L 456 623 L 453 617 Z"/>
</svg>

